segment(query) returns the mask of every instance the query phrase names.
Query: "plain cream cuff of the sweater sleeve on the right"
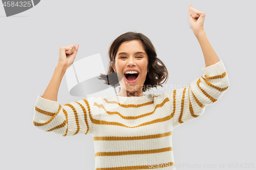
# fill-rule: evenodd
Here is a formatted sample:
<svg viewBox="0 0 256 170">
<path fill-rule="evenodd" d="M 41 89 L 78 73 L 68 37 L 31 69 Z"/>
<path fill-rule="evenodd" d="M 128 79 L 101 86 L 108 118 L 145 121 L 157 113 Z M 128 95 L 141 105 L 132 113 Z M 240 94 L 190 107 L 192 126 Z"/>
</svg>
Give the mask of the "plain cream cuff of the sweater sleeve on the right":
<svg viewBox="0 0 256 170">
<path fill-rule="evenodd" d="M 226 71 L 226 68 L 222 62 L 222 60 L 220 60 L 218 63 L 209 65 L 207 67 L 203 67 L 202 71 L 204 72 L 204 74 L 206 76 L 217 76 L 217 75 L 221 75 L 223 74 L 223 72 Z"/>
</svg>

